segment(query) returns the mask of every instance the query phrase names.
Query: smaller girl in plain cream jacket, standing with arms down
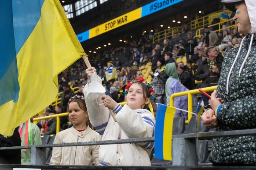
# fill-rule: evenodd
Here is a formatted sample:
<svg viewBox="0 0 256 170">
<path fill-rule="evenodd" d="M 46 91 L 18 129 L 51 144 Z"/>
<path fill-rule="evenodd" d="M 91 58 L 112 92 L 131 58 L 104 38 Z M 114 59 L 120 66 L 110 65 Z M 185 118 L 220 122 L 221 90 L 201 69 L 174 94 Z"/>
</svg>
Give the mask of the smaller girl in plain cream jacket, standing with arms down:
<svg viewBox="0 0 256 170">
<path fill-rule="evenodd" d="M 100 141 L 101 136 L 91 130 L 84 96 L 73 96 L 69 99 L 69 120 L 71 128 L 59 132 L 55 143 L 76 143 Z M 50 165 L 98 165 L 99 145 L 55 147 L 52 150 Z"/>
</svg>

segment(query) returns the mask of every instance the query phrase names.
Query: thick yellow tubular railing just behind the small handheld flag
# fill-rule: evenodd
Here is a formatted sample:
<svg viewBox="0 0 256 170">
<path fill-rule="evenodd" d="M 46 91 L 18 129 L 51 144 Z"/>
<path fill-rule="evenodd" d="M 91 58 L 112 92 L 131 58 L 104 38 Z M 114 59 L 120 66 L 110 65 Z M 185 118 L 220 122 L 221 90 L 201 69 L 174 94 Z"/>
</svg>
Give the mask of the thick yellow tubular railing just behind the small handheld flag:
<svg viewBox="0 0 256 170">
<path fill-rule="evenodd" d="M 217 88 L 217 86 L 212 86 L 212 87 L 206 87 L 206 88 L 202 88 L 203 91 L 205 92 L 212 92 Z M 193 111 L 193 99 L 192 99 L 192 95 L 200 93 L 198 89 L 194 89 L 194 90 L 190 90 L 190 91 L 186 91 L 186 92 L 178 92 L 178 93 L 174 93 L 172 94 L 171 98 L 170 98 L 170 106 L 174 106 L 174 98 L 175 97 L 179 97 L 179 96 L 186 96 L 187 95 L 187 106 L 188 106 L 188 111 L 192 112 Z M 188 120 L 186 120 L 186 124 L 188 124 L 188 122 L 190 121 L 192 117 L 191 113 L 188 113 Z"/>
</svg>

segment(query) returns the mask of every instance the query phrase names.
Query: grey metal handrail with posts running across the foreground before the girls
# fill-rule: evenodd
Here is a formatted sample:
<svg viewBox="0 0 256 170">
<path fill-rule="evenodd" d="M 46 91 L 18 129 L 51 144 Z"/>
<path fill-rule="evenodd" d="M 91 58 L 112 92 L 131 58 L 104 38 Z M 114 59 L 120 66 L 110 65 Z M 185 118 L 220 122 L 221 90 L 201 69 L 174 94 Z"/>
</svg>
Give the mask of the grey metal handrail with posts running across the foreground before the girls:
<svg viewBox="0 0 256 170">
<path fill-rule="evenodd" d="M 198 166 L 198 159 L 196 153 L 195 138 L 198 139 L 210 139 L 221 137 L 237 137 L 245 135 L 255 135 L 256 128 L 234 130 L 234 131 L 212 131 L 212 132 L 200 132 L 193 134 L 179 134 L 172 135 L 172 165 L 170 166 Z M 86 145 L 113 145 L 124 143 L 142 143 L 142 142 L 154 142 L 154 137 L 149 138 L 130 138 L 130 139 L 117 139 L 106 141 L 90 141 L 90 142 L 77 142 L 77 143 L 58 143 L 58 144 L 46 144 L 46 145 L 29 145 L 29 146 L 12 146 L 2 147 L 0 150 L 13 150 L 13 149 L 31 149 L 31 165 L 40 166 L 45 164 L 46 148 L 53 147 L 70 147 L 70 146 L 86 146 Z M 185 151 L 184 151 L 185 149 Z M 176 154 L 178 153 L 178 154 Z M 10 167 L 15 165 L 9 165 Z M 88 166 L 84 166 L 88 167 Z M 120 167 L 120 166 L 117 166 Z M 167 167 L 167 166 L 166 166 Z M 49 167 L 48 167 L 49 168 Z M 70 167 L 69 167 L 70 168 Z M 113 168 L 113 167 L 112 167 Z M 140 167 L 141 168 L 141 167 Z"/>
</svg>

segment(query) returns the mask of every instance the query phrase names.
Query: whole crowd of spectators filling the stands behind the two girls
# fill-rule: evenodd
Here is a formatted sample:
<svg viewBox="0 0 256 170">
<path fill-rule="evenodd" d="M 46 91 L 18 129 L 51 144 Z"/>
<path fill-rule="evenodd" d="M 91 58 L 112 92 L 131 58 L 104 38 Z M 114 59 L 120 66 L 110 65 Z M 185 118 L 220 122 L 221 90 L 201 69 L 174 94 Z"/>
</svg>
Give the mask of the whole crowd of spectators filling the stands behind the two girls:
<svg viewBox="0 0 256 170">
<path fill-rule="evenodd" d="M 220 17 L 222 20 L 230 18 L 225 10 Z M 102 78 L 102 84 L 106 85 L 109 96 L 117 103 L 125 101 L 125 86 L 132 80 L 142 78 L 143 73 L 139 68 L 150 62 L 149 75 L 152 78 L 150 84 L 154 86 L 156 92 L 154 102 L 169 105 L 169 99 L 173 93 L 218 85 L 224 55 L 233 47 L 240 46 L 241 39 L 245 36 L 240 35 L 235 28 L 231 30 L 232 35 L 230 35 L 230 28 L 225 28 L 232 24 L 232 22 L 225 22 L 222 25 L 223 32 L 214 32 L 205 26 L 205 33 L 201 38 L 193 38 L 193 33 L 190 31 L 175 34 L 172 39 L 178 40 L 178 43 L 174 41 L 171 43 L 172 39 L 164 39 L 162 43 L 155 46 L 150 43 L 151 34 L 144 35 L 124 46 L 90 54 L 89 60 Z M 186 37 L 182 38 L 182 34 Z M 179 60 L 181 58 L 185 58 L 185 62 Z M 78 87 L 77 95 L 83 96 L 84 85 L 88 81 L 85 69 L 85 63 L 80 59 L 59 74 L 61 104 L 56 110 L 51 105 L 48 106 L 44 110 L 44 115 L 40 117 L 66 112 L 69 99 L 75 95 L 72 90 L 74 87 Z M 108 79 L 107 74 L 110 72 L 112 77 Z M 208 105 L 206 96 L 203 96 L 202 100 L 203 105 Z M 187 96 L 176 97 L 174 106 L 187 110 Z M 175 117 L 186 116 L 186 112 L 176 110 Z M 68 117 L 61 117 L 60 121 L 61 130 L 69 126 Z M 39 120 L 37 126 L 41 135 L 55 134 L 56 118 Z M 5 146 L 4 142 L 8 138 L 0 137 L 0 142 Z M 15 133 L 11 138 L 13 137 Z"/>
</svg>

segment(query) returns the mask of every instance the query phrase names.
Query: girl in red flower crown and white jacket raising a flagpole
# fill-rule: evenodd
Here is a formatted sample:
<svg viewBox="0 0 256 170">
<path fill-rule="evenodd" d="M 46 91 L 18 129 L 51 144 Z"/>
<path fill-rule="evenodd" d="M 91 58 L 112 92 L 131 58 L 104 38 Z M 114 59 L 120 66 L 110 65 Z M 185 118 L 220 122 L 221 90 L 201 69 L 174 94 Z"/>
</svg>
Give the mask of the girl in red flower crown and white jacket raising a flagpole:
<svg viewBox="0 0 256 170">
<path fill-rule="evenodd" d="M 92 69 L 86 69 L 88 79 L 93 74 Z M 92 98 L 88 84 L 84 87 L 91 124 L 102 135 L 102 140 L 154 137 L 155 118 L 147 110 L 150 100 L 153 99 L 153 87 L 140 78 L 128 83 L 126 89 L 127 105 L 121 106 L 110 96 Z M 117 122 L 110 116 L 108 108 L 116 114 Z M 101 145 L 100 165 L 151 166 L 149 154 L 153 147 L 154 142 Z"/>
</svg>

